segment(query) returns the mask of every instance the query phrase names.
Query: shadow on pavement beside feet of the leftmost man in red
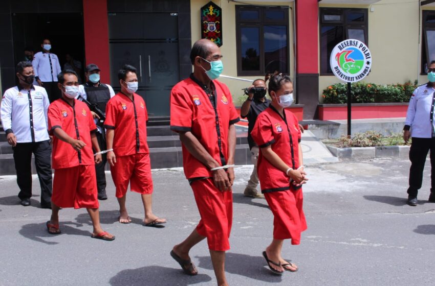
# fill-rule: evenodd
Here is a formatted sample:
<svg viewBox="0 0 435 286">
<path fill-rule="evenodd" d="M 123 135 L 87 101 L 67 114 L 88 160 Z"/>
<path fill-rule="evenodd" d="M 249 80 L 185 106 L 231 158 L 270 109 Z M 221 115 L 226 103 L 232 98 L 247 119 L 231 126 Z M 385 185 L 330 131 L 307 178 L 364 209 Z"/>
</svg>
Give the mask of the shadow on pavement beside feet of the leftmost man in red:
<svg viewBox="0 0 435 286">
<path fill-rule="evenodd" d="M 75 227 L 69 225 L 74 225 Z M 58 244 L 58 242 L 46 241 L 45 239 L 48 237 L 55 237 L 59 235 L 84 235 L 84 236 L 91 237 L 92 228 L 90 230 L 81 230 L 76 228 L 81 226 L 83 225 L 79 223 L 61 221 L 59 224 L 59 228 L 62 233 L 50 234 L 47 231 L 46 222 L 39 223 L 39 224 L 26 224 L 21 226 L 21 229 L 19 230 L 19 234 L 23 235 L 24 237 L 32 241 L 41 242 L 45 244 Z"/>
</svg>

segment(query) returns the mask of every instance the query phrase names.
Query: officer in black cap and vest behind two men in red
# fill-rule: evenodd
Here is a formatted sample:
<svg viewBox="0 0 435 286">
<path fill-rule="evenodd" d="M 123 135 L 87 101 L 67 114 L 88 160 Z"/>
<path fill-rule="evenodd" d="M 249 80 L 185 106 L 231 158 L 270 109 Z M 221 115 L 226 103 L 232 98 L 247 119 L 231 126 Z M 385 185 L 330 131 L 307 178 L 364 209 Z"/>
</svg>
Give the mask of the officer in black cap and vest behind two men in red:
<svg viewBox="0 0 435 286">
<path fill-rule="evenodd" d="M 85 76 L 86 83 L 79 86 L 80 97 L 91 104 L 96 104 L 97 107 L 105 113 L 107 102 L 115 96 L 112 86 L 100 82 L 100 69 L 96 64 L 92 63 L 86 66 Z M 102 118 L 100 118 L 96 112 L 92 111 L 92 108 L 91 113 L 98 128 L 98 132 L 96 133 L 98 144 L 100 145 L 101 151 L 104 151 L 106 150 L 106 140 Z M 104 173 L 107 162 L 106 154 L 103 154 L 102 158 L 103 161 L 95 165 L 98 199 L 107 200 L 106 177 Z"/>
</svg>

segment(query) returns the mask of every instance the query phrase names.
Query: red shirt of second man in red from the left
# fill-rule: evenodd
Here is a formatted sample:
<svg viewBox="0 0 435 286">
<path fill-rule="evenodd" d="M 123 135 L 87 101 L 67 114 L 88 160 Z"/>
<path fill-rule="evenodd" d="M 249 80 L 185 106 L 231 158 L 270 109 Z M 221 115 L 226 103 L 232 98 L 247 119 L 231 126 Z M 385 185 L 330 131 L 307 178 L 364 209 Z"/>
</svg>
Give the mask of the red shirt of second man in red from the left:
<svg viewBox="0 0 435 286">
<path fill-rule="evenodd" d="M 107 102 L 104 127 L 115 130 L 113 152 L 116 156 L 149 153 L 147 121 L 145 101 L 139 94 L 133 93 L 133 100 L 130 100 L 119 92 Z"/>
</svg>

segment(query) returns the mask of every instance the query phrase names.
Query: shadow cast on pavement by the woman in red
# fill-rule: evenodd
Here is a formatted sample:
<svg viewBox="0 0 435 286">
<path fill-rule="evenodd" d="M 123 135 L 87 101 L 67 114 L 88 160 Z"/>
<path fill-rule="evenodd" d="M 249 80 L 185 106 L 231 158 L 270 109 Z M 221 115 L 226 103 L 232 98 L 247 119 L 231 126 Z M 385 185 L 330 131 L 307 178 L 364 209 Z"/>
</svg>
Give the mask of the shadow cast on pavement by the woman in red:
<svg viewBox="0 0 435 286">
<path fill-rule="evenodd" d="M 259 253 L 261 254 L 261 251 Z M 213 270 L 210 256 L 195 256 L 195 258 L 199 260 L 198 267 Z M 263 256 L 227 252 L 225 271 L 265 282 L 281 282 L 282 280 L 280 275 L 273 274 L 267 268 L 266 260 Z"/>
</svg>

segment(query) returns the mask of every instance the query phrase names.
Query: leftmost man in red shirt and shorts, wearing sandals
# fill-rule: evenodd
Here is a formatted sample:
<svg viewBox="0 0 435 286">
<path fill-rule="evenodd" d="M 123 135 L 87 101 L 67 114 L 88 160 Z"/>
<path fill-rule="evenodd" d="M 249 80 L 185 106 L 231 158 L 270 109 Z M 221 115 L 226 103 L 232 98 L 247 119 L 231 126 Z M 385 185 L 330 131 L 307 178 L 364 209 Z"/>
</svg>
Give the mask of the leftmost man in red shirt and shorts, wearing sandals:
<svg viewBox="0 0 435 286">
<path fill-rule="evenodd" d="M 54 169 L 52 214 L 48 232 L 59 234 L 59 209 L 85 207 L 91 216 L 92 237 L 113 241 L 115 236 L 100 226 L 95 163 L 101 162 L 95 132 L 97 127 L 88 106 L 74 98 L 78 95 L 78 78 L 73 70 L 58 75 L 62 97 L 48 109 L 48 128 L 53 136 L 52 166 Z M 97 155 L 94 159 L 92 147 Z"/>
</svg>

